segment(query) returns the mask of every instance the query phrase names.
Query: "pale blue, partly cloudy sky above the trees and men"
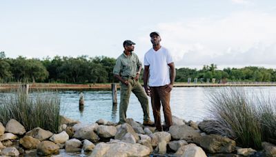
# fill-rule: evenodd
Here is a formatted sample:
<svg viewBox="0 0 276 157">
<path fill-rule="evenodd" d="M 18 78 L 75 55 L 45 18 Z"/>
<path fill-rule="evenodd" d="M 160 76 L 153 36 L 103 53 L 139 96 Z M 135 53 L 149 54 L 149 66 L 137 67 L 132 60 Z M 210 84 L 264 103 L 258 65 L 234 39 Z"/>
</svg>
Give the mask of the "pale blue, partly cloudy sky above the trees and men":
<svg viewBox="0 0 276 157">
<path fill-rule="evenodd" d="M 0 10 L 0 51 L 10 58 L 116 59 L 128 39 L 144 62 L 157 31 L 176 67 L 276 69 L 275 0 L 1 0 Z"/>
</svg>

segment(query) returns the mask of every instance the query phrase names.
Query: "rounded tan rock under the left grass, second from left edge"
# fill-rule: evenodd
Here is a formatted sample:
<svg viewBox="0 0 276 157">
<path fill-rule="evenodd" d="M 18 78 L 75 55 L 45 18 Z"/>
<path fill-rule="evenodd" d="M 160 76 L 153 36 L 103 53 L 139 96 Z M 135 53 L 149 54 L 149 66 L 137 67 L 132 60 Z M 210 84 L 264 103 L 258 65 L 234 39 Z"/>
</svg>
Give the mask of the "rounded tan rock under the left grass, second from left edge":
<svg viewBox="0 0 276 157">
<path fill-rule="evenodd" d="M 26 133 L 26 129 L 17 120 L 10 119 L 6 125 L 6 132 L 23 135 Z"/>
</svg>

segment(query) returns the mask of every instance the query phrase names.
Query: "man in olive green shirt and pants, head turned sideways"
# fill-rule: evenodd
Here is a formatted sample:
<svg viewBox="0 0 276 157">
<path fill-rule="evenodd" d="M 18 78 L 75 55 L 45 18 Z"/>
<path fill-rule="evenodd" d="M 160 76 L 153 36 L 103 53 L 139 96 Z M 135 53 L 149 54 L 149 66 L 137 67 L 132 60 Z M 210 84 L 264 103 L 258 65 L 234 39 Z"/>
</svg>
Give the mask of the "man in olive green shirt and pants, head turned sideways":
<svg viewBox="0 0 276 157">
<path fill-rule="evenodd" d="M 139 61 L 137 54 L 133 53 L 134 45 L 132 41 L 126 40 L 123 43 L 124 53 L 121 54 L 113 69 L 115 78 L 119 79 L 121 86 L 121 100 L 119 107 L 119 124 L 126 123 L 126 110 L 130 93 L 133 92 L 137 96 L 144 112 L 144 125 L 154 125 L 150 121 L 150 114 L 148 108 L 148 97 L 143 87 L 139 83 L 139 76 L 141 72 L 141 61 Z"/>
</svg>

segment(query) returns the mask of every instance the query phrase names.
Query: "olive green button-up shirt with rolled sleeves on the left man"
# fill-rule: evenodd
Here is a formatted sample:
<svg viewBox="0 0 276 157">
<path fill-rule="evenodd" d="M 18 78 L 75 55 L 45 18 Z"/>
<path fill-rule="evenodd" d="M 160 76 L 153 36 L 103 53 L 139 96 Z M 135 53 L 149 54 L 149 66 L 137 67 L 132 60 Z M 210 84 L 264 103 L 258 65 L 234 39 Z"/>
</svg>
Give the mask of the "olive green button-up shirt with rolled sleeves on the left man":
<svg viewBox="0 0 276 157">
<path fill-rule="evenodd" d="M 126 56 L 123 52 L 116 60 L 113 74 L 135 77 L 141 65 L 142 63 L 139 61 L 137 54 L 132 52 L 129 56 Z"/>
</svg>

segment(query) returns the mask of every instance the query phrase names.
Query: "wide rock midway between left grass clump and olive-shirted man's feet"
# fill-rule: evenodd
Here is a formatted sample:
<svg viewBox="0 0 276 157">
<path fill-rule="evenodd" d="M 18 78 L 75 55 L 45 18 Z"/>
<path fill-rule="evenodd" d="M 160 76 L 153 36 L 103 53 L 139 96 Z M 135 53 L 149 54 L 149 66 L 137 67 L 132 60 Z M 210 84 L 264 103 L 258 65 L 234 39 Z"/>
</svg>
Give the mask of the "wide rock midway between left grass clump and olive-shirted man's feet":
<svg viewBox="0 0 276 157">
<path fill-rule="evenodd" d="M 97 124 L 97 123 L 96 123 Z M 75 126 L 74 126 L 75 127 Z M 97 124 L 98 127 L 98 124 Z M 73 138 L 91 140 L 93 143 L 97 143 L 99 136 L 94 132 L 95 127 L 87 126 L 77 129 L 77 132 L 73 135 Z"/>
</svg>

